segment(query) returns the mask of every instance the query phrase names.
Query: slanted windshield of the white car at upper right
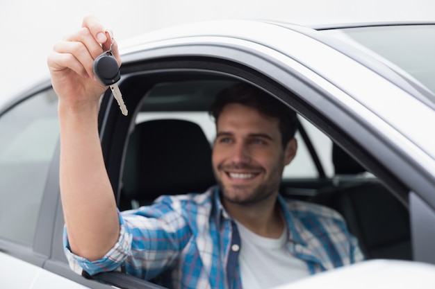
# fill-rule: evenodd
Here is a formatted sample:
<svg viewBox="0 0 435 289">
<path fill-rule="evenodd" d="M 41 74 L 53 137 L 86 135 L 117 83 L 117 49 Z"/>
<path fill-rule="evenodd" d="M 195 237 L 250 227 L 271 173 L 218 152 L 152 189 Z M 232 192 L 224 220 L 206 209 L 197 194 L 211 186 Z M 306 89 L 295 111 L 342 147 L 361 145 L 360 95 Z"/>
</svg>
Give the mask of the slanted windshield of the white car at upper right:
<svg viewBox="0 0 435 289">
<path fill-rule="evenodd" d="M 384 58 L 389 67 L 406 71 L 435 94 L 435 25 L 340 28 L 325 33 Z"/>
</svg>

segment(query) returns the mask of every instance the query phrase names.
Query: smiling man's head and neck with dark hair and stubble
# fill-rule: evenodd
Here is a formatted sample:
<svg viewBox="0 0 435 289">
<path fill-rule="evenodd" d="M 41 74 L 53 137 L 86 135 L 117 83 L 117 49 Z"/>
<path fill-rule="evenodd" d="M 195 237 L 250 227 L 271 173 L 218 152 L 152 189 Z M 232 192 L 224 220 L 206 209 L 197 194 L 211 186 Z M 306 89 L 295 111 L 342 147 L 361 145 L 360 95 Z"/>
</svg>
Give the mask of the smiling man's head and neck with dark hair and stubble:
<svg viewBox="0 0 435 289">
<path fill-rule="evenodd" d="M 284 166 L 297 150 L 295 112 L 239 84 L 217 96 L 211 114 L 217 135 L 213 169 L 224 208 L 257 234 L 280 236 L 284 223 L 275 207 Z"/>
</svg>

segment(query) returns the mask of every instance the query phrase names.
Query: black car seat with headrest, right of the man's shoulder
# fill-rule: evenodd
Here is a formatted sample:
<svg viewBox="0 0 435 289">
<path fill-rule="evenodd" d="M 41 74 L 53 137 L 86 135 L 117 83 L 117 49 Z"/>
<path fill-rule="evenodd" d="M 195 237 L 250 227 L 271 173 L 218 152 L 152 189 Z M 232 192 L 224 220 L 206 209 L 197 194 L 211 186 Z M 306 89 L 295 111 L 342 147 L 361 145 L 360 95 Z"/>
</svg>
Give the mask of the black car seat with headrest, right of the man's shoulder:
<svg viewBox="0 0 435 289">
<path fill-rule="evenodd" d="M 338 179 L 334 189 L 319 191 L 313 202 L 336 209 L 343 215 L 366 259 L 411 260 L 409 212 L 375 178 L 357 177 L 366 172 L 350 155 L 334 144 L 332 158 Z"/>
</svg>

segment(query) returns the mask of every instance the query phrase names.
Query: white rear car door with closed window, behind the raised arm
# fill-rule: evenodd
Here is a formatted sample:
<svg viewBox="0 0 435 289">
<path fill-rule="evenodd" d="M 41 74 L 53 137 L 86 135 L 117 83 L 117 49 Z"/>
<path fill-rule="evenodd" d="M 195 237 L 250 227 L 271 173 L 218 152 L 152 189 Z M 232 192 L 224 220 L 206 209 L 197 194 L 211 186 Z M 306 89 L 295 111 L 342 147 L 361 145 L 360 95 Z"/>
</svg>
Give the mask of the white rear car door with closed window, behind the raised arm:
<svg viewBox="0 0 435 289">
<path fill-rule="evenodd" d="M 0 109 L 0 287 L 111 288 L 74 274 L 62 247 L 57 96 L 42 82 Z"/>
</svg>

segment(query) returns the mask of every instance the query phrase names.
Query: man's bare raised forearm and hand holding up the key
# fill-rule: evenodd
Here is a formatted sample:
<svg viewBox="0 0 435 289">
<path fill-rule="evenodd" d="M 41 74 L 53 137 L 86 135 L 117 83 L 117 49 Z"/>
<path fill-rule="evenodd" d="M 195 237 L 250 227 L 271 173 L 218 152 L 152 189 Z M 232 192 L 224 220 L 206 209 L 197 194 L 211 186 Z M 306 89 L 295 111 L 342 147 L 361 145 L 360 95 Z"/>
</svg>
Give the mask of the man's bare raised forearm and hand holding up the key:
<svg viewBox="0 0 435 289">
<path fill-rule="evenodd" d="M 115 245 L 120 231 L 97 127 L 106 87 L 92 70 L 95 58 L 108 50 L 109 38 L 97 19 L 85 17 L 82 28 L 55 44 L 47 58 L 59 98 L 60 195 L 69 246 L 91 261 Z M 120 64 L 116 42 L 113 55 Z"/>
</svg>

